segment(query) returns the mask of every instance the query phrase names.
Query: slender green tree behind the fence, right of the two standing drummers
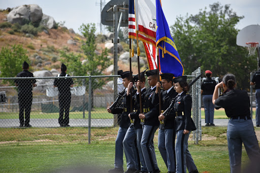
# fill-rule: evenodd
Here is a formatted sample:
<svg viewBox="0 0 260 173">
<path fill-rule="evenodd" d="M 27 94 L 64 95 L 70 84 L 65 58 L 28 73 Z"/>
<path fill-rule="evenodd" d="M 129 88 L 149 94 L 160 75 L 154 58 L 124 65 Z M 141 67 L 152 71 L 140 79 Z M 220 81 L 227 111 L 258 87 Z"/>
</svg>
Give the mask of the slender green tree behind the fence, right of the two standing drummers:
<svg viewBox="0 0 260 173">
<path fill-rule="evenodd" d="M 80 31 L 84 36 L 85 40 L 82 41 L 81 49 L 82 54 L 68 54 L 65 51 L 61 51 L 61 57 L 64 58 L 64 61 L 68 64 L 68 72 L 72 73 L 73 76 L 100 76 L 103 75 L 102 71 L 105 70 L 110 64 L 108 50 L 102 50 L 100 55 L 95 53 L 96 43 L 95 43 L 95 24 L 82 24 L 80 26 Z M 85 59 L 86 62 L 82 64 L 81 59 Z M 91 81 L 92 86 L 92 96 L 93 90 L 101 88 L 105 81 L 103 78 L 96 78 Z M 88 83 L 86 83 L 88 87 Z M 92 97 L 93 100 L 93 97 Z M 93 103 L 93 101 L 92 101 Z M 93 105 L 92 105 L 93 107 Z"/>
</svg>

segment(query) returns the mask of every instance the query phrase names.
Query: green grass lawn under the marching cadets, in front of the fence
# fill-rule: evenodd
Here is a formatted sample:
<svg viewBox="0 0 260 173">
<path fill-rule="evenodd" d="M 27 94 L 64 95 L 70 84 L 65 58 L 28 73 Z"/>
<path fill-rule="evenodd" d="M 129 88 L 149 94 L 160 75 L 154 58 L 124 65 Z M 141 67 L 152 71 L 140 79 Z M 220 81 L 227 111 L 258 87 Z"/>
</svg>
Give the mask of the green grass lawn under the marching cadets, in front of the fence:
<svg viewBox="0 0 260 173">
<path fill-rule="evenodd" d="M 56 128 L 56 130 L 54 128 L 1 128 L 0 133 L 6 130 L 4 135 L 0 135 L 1 141 L 3 141 L 3 137 L 6 141 L 12 140 L 12 135 L 9 133 L 19 133 L 17 130 L 27 131 L 27 134 L 24 135 L 24 137 L 26 136 L 24 140 L 27 141 L 0 143 L 0 172 L 53 172 L 63 167 L 80 167 L 82 165 L 97 166 L 104 170 L 113 168 L 115 131 L 117 129 L 91 128 L 93 132 L 91 140 L 96 137 L 94 139 L 96 142 L 88 145 L 86 136 L 80 138 L 80 136 L 87 134 L 87 128 Z M 260 128 L 255 128 L 255 130 L 260 131 Z M 157 163 L 161 172 L 166 173 L 167 167 L 157 148 L 157 131 L 154 140 Z M 229 172 L 228 145 L 226 137 L 223 137 L 226 133 L 226 127 L 202 127 L 202 132 L 213 138 L 200 141 L 199 145 L 194 145 L 194 142 L 189 141 L 189 151 L 199 172 Z M 54 137 L 50 142 L 47 140 L 50 136 L 44 134 L 56 134 L 56 137 L 61 138 Z M 34 141 L 39 136 L 47 136 L 47 138 L 42 139 L 43 142 Z M 76 137 L 72 140 L 70 136 Z M 125 157 L 123 158 L 124 170 L 126 170 L 126 160 Z M 245 166 L 247 162 L 248 157 L 243 147 L 242 165 Z"/>
</svg>

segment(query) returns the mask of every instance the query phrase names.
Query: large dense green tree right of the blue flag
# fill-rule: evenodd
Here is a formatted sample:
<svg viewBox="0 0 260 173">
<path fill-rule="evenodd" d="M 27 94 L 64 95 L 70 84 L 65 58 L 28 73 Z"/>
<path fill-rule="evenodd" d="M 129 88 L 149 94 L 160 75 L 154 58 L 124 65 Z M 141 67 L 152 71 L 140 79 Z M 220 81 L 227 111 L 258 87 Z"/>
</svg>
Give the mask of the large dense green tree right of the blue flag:
<svg viewBox="0 0 260 173">
<path fill-rule="evenodd" d="M 230 5 L 214 3 L 197 15 L 177 17 L 171 26 L 173 38 L 184 66 L 191 74 L 201 66 L 213 76 L 226 73 L 236 75 L 238 88 L 249 87 L 250 72 L 256 70 L 256 58 L 248 57 L 247 50 L 236 44 L 238 29 L 235 25 L 244 18 L 237 16 Z"/>
</svg>

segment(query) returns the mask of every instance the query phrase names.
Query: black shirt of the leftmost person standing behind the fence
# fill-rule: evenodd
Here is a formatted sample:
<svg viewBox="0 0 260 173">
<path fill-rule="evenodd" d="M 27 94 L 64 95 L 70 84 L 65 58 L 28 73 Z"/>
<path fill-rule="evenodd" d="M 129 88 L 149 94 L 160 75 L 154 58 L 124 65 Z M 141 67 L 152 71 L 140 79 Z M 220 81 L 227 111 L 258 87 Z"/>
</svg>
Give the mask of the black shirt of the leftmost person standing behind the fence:
<svg viewBox="0 0 260 173">
<path fill-rule="evenodd" d="M 34 75 L 27 70 L 23 70 L 22 72 L 18 73 L 16 77 L 25 78 L 25 77 L 34 77 Z M 32 84 L 36 83 L 36 80 L 35 79 L 24 79 L 24 80 L 16 79 L 14 82 L 18 85 L 18 93 L 20 93 L 20 92 L 31 92 Z"/>
</svg>

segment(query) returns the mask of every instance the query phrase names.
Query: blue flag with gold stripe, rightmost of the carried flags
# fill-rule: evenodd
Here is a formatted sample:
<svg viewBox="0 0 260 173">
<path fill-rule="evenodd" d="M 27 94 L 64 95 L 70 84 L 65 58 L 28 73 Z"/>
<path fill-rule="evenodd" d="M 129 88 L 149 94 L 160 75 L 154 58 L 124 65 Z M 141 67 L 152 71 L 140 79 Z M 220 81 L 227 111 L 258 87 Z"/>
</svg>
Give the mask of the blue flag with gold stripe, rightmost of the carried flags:
<svg viewBox="0 0 260 173">
<path fill-rule="evenodd" d="M 176 45 L 171 36 L 160 0 L 156 0 L 156 46 L 159 48 L 161 73 L 171 73 L 175 77 L 183 76 L 184 69 Z"/>
</svg>

